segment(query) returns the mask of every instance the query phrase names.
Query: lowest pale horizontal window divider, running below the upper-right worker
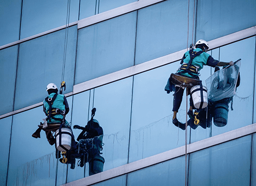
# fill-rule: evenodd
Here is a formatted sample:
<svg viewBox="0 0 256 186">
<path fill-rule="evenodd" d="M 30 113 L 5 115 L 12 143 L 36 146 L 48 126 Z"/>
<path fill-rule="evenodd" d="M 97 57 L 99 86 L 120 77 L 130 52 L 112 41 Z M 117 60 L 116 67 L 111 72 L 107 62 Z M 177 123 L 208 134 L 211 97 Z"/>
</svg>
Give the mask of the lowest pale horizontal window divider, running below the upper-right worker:
<svg viewBox="0 0 256 186">
<path fill-rule="evenodd" d="M 219 134 L 216 136 L 212 136 L 206 139 L 203 139 L 198 142 L 194 142 L 192 144 L 187 145 L 187 153 L 196 152 L 199 150 L 203 150 L 205 148 L 209 148 L 212 146 L 216 146 L 225 142 L 232 141 L 233 139 L 243 137 L 246 135 L 250 135 L 256 132 L 256 123 L 253 123 L 252 125 L 242 127 L 239 129 L 235 129 L 229 132 L 225 132 L 223 134 Z M 178 158 L 181 156 L 184 156 L 186 154 L 186 146 L 181 146 L 172 150 L 168 150 L 162 153 L 159 153 L 157 155 L 144 158 L 135 162 L 131 162 L 116 168 L 112 168 L 110 170 L 106 170 L 102 173 L 98 173 L 86 178 L 82 178 L 76 181 L 72 181 L 66 184 L 63 184 L 62 186 L 71 186 L 71 185 L 91 185 L 97 182 L 105 181 L 111 178 L 115 178 L 124 174 L 128 174 L 131 172 L 134 172 L 136 170 L 146 168 L 158 163 L 162 163 L 174 158 Z"/>
</svg>

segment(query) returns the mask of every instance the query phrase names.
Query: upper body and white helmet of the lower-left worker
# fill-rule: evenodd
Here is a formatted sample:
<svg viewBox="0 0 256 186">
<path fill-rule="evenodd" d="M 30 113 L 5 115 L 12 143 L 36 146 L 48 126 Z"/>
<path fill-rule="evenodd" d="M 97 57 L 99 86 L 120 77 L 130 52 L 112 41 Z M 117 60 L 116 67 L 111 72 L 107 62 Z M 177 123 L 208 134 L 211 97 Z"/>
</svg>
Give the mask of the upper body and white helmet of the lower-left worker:
<svg viewBox="0 0 256 186">
<path fill-rule="evenodd" d="M 44 113 L 47 116 L 47 123 L 62 123 L 65 115 L 69 112 L 67 99 L 64 95 L 58 94 L 58 88 L 55 84 L 47 85 L 48 97 L 44 100 Z M 65 127 L 70 128 L 65 120 Z"/>
</svg>

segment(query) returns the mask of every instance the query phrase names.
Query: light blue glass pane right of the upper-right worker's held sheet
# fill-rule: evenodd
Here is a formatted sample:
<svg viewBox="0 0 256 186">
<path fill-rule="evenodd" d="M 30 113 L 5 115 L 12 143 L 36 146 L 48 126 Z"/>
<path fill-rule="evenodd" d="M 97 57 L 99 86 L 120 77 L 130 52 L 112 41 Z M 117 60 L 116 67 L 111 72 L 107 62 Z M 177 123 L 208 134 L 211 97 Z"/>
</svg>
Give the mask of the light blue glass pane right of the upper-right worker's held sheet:
<svg viewBox="0 0 256 186">
<path fill-rule="evenodd" d="M 233 97 L 233 105 L 232 102 L 229 104 L 227 123 L 224 127 L 219 127 L 213 122 L 212 135 L 238 129 L 252 123 L 255 37 L 220 48 L 221 61 L 235 61 L 239 58 L 241 58 L 240 85 L 237 87 L 236 95 Z M 224 112 L 220 114 L 220 117 L 225 118 L 226 114 Z"/>
</svg>

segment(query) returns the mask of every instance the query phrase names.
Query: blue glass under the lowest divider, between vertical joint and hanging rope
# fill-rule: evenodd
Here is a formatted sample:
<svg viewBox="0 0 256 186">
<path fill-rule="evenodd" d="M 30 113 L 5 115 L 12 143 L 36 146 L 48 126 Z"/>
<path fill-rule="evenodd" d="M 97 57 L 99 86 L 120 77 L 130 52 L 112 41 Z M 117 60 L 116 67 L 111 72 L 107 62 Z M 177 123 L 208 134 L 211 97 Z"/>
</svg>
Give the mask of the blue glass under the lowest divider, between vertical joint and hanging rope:
<svg viewBox="0 0 256 186">
<path fill-rule="evenodd" d="M 185 157 L 175 158 L 127 175 L 127 185 L 185 185 Z"/>
</svg>

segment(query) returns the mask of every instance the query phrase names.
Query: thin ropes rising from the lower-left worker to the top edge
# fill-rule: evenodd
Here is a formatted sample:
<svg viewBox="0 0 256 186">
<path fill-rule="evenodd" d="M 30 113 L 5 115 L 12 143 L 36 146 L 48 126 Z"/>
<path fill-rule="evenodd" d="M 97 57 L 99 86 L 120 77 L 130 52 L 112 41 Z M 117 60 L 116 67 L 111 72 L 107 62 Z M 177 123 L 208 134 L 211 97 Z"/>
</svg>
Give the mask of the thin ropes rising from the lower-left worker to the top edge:
<svg viewBox="0 0 256 186">
<path fill-rule="evenodd" d="M 62 76 L 61 76 L 61 81 L 62 81 L 62 82 L 64 81 L 65 66 L 66 66 L 69 17 L 70 17 L 70 0 L 67 0 L 67 17 L 66 17 L 65 39 L 64 39 L 64 53 L 63 53 L 63 65 L 62 65 Z"/>
</svg>

